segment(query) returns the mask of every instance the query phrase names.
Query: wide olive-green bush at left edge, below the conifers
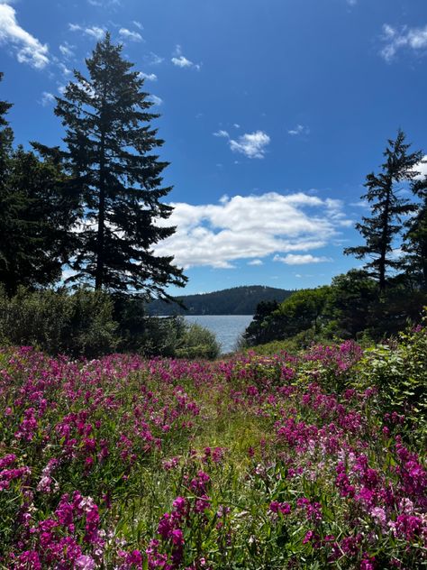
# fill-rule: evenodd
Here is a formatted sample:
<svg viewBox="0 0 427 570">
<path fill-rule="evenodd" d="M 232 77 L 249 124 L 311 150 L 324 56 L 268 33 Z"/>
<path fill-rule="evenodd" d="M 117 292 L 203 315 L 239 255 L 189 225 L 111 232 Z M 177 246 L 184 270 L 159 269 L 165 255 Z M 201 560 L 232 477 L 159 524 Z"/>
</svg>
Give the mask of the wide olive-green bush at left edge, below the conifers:
<svg viewBox="0 0 427 570">
<path fill-rule="evenodd" d="M 0 294 L 2 344 L 94 358 L 115 351 L 116 328 L 112 300 L 102 292 L 21 288 L 11 299 Z"/>
</svg>

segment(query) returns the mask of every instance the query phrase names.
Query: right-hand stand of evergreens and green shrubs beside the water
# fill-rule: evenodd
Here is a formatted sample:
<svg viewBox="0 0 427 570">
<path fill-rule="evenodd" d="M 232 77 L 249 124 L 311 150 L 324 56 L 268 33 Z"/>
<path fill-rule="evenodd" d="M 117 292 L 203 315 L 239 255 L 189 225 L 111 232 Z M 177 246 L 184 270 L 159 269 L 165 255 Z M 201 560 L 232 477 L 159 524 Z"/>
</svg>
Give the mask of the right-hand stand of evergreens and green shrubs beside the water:
<svg viewBox="0 0 427 570">
<path fill-rule="evenodd" d="M 370 209 L 356 225 L 364 244 L 344 250 L 366 260 L 363 268 L 338 275 L 331 285 L 296 291 L 282 303 L 260 303 L 244 335 L 248 345 L 377 340 L 408 320 L 420 321 L 427 305 L 427 175 L 417 170 L 423 153 L 410 152 L 399 130 L 384 157 L 379 172 L 368 174 L 361 197 Z"/>
</svg>

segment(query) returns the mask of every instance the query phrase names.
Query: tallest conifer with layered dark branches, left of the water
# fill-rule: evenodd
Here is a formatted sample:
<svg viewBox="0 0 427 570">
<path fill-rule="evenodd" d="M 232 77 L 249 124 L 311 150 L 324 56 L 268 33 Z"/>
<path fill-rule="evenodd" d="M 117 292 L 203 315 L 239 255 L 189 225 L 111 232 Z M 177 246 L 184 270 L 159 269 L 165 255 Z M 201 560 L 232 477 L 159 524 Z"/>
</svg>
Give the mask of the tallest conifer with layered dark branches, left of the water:
<svg viewBox="0 0 427 570">
<path fill-rule="evenodd" d="M 150 113 L 143 79 L 122 50 L 107 33 L 86 60 L 88 77 L 75 71 L 76 81 L 57 98 L 55 114 L 67 129 L 63 158 L 84 211 L 71 279 L 168 299 L 169 284 L 186 282 L 173 257 L 152 250 L 175 232 L 155 223 L 172 212 L 160 202 L 171 189 L 161 186 L 168 163 L 152 153 L 163 144 L 150 127 L 159 115 Z"/>
</svg>

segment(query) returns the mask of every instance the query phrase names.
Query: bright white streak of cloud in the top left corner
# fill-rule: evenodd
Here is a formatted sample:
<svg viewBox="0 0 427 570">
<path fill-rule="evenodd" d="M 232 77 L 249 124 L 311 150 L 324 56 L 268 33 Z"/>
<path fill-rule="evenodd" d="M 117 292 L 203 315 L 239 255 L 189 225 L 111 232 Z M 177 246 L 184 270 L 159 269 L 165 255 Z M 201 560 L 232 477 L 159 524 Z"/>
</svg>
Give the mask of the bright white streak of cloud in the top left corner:
<svg viewBox="0 0 427 570">
<path fill-rule="evenodd" d="M 0 44 L 11 47 L 20 63 L 28 63 L 32 68 L 43 69 L 49 63 L 49 48 L 16 21 L 12 6 L 0 4 Z"/>
</svg>

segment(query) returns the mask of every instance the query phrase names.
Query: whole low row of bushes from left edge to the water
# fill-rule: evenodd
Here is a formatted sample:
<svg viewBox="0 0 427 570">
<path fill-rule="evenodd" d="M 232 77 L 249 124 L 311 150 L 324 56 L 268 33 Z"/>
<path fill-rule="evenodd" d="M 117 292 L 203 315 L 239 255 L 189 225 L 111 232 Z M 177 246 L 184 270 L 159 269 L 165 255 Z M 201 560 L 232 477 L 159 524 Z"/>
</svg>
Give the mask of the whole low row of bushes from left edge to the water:
<svg viewBox="0 0 427 570">
<path fill-rule="evenodd" d="M 47 354 L 97 358 L 114 352 L 213 359 L 213 333 L 182 317 L 145 317 L 144 302 L 86 289 L 0 290 L 0 344 L 31 345 Z"/>
</svg>

